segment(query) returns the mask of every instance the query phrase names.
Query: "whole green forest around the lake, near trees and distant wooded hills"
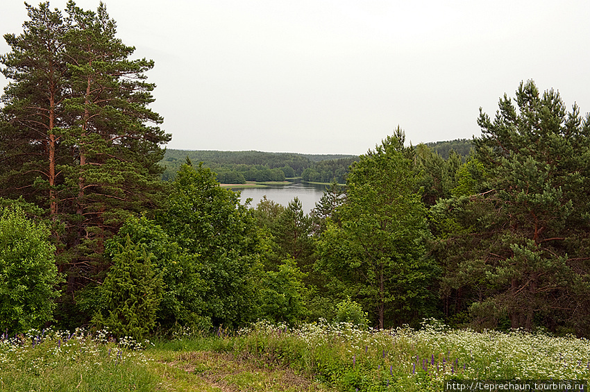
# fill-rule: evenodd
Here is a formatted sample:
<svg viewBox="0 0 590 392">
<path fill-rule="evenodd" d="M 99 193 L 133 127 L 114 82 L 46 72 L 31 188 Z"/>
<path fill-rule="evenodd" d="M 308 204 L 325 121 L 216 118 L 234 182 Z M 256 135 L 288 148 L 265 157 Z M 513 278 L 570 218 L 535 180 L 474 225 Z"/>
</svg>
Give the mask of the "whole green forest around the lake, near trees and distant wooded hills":
<svg viewBox="0 0 590 392">
<path fill-rule="evenodd" d="M 106 8 L 27 8 L 0 57 L 0 330 L 367 317 L 589 336 L 590 117 L 555 90 L 521 83 L 473 141 L 407 146 L 398 127 L 359 157 L 165 155 L 153 62 Z M 334 182 L 311 214 L 218 182 L 293 176 Z"/>
</svg>

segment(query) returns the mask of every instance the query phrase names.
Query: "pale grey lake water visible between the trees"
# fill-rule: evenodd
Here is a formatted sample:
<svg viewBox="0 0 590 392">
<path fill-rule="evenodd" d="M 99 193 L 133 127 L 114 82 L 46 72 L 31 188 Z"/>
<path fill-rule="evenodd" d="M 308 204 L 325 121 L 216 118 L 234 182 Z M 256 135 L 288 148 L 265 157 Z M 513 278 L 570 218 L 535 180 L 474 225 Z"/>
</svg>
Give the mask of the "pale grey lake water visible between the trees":
<svg viewBox="0 0 590 392">
<path fill-rule="evenodd" d="M 309 184 L 307 182 L 292 182 L 285 185 L 269 185 L 266 188 L 236 188 L 235 191 L 241 192 L 241 203 L 246 202 L 246 198 L 252 198 L 251 207 L 256 207 L 262 196 L 267 199 L 287 207 L 294 197 L 298 197 L 303 205 L 303 212 L 309 214 L 315 207 L 315 204 L 323 196 L 326 185 Z"/>
</svg>

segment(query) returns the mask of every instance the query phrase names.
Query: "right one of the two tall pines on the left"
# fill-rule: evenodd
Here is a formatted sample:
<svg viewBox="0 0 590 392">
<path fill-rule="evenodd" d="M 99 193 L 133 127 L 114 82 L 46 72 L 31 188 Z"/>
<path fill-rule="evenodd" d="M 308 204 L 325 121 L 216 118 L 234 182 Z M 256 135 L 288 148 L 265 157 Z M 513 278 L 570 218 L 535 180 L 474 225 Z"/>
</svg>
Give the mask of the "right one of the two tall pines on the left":
<svg viewBox="0 0 590 392">
<path fill-rule="evenodd" d="M 147 107 L 155 86 L 144 81 L 144 72 L 153 61 L 128 60 L 135 48 L 115 36 L 103 3 L 92 12 L 69 1 L 66 11 L 66 142 L 75 162 L 64 169 L 72 201 L 68 224 L 75 234 L 70 241 L 83 244 L 88 255 L 100 252 L 130 213 L 158 205 L 159 144 L 169 135 L 148 125 L 162 122 Z"/>
</svg>

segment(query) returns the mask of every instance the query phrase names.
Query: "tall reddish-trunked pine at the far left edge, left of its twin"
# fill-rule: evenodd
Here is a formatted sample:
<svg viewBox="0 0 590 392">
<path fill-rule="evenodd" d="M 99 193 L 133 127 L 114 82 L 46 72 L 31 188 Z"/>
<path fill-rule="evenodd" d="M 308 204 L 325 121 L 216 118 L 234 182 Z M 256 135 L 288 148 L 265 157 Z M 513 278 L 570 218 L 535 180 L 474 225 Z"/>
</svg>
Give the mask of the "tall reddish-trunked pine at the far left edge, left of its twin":
<svg viewBox="0 0 590 392">
<path fill-rule="evenodd" d="M 67 135 L 67 24 L 49 3 L 26 8 L 30 20 L 24 22 L 24 32 L 4 35 L 12 51 L 0 56 L 6 66 L 2 73 L 12 80 L 2 96 L 0 192 L 8 198 L 24 196 L 56 219 L 58 189 L 64 182 L 59 168 L 69 164 L 61 148 Z"/>
</svg>

